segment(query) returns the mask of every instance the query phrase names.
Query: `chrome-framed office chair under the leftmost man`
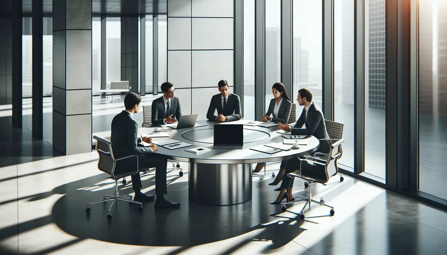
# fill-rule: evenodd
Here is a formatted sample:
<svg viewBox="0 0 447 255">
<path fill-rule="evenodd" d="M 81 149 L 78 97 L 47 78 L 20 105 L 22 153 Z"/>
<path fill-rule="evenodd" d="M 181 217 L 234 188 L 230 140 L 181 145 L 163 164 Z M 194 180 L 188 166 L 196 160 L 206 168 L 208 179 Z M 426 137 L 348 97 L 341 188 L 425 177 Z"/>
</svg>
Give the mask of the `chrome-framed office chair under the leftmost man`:
<svg viewBox="0 0 447 255">
<path fill-rule="evenodd" d="M 112 151 L 112 142 L 110 142 L 107 139 L 98 137 L 96 135 L 93 136 L 93 139 L 96 139 L 96 151 L 99 155 L 98 160 L 98 169 L 110 174 L 109 177 L 106 177 L 106 179 L 112 179 L 115 181 L 115 195 L 103 195 L 102 200 L 95 201 L 92 203 L 87 204 L 87 208 L 85 208 L 86 213 L 90 213 L 90 205 L 106 202 L 106 201 L 112 201 L 113 203 L 110 206 L 109 214 L 107 214 L 107 219 L 112 218 L 112 208 L 113 206 L 118 203 L 118 200 L 127 201 L 129 203 L 140 205 L 138 210 L 140 212 L 143 211 L 143 204 L 137 201 L 132 200 L 131 195 L 123 195 L 119 196 L 118 194 L 118 180 L 125 176 L 131 176 L 133 174 L 138 173 L 138 156 L 137 155 L 131 155 L 122 157 L 119 159 L 115 159 Z M 108 198 L 107 198 L 108 197 Z"/>
</svg>

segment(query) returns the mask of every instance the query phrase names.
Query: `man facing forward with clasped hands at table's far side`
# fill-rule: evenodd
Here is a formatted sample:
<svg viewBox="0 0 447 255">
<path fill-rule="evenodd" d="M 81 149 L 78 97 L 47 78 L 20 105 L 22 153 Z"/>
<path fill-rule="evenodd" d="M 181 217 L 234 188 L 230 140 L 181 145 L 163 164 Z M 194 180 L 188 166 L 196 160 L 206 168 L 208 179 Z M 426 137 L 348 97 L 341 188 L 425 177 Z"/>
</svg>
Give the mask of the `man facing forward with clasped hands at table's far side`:
<svg viewBox="0 0 447 255">
<path fill-rule="evenodd" d="M 210 121 L 237 121 L 242 117 L 240 98 L 238 95 L 230 93 L 229 89 L 226 80 L 219 81 L 220 94 L 211 98 L 208 108 L 207 119 Z M 218 116 L 214 115 L 216 109 Z"/>
</svg>

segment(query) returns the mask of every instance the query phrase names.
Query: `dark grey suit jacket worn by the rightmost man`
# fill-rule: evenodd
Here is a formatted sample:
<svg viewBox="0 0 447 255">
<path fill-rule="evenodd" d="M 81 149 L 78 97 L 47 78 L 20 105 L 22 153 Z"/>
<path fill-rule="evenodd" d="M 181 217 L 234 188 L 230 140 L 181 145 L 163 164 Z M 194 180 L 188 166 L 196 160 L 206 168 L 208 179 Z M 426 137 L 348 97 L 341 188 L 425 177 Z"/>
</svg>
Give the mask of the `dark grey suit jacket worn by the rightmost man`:
<svg viewBox="0 0 447 255">
<path fill-rule="evenodd" d="M 306 124 L 306 128 L 302 129 L 303 125 Z M 313 135 L 317 139 L 329 139 L 320 141 L 320 148 L 318 151 L 323 153 L 328 153 L 330 146 L 329 134 L 326 130 L 325 117 L 321 108 L 312 103 L 309 107 L 309 112 L 306 117 L 306 109 L 303 109 L 301 116 L 299 116 L 298 121 L 291 124 L 291 134 L 303 134 L 303 135 Z"/>
</svg>

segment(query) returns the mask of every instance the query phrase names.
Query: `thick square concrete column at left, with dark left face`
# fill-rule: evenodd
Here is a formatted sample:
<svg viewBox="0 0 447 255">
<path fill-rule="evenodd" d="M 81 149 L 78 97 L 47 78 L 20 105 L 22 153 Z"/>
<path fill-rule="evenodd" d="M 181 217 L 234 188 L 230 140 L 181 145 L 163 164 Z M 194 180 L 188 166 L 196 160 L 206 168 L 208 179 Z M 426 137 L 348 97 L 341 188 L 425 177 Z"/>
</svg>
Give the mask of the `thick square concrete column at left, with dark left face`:
<svg viewBox="0 0 447 255">
<path fill-rule="evenodd" d="M 92 1 L 53 1 L 53 147 L 92 150 Z"/>
</svg>

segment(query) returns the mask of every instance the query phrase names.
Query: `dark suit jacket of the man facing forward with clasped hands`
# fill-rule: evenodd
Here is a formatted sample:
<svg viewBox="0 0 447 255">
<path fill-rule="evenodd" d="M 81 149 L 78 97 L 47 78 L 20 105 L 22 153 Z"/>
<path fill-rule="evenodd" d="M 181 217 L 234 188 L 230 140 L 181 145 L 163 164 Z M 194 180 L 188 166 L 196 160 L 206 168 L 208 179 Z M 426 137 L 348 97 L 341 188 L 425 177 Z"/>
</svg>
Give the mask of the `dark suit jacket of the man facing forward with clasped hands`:
<svg viewBox="0 0 447 255">
<path fill-rule="evenodd" d="M 210 121 L 216 121 L 217 116 L 214 115 L 217 109 L 217 115 L 223 114 L 223 116 L 228 118 L 228 121 L 237 121 L 242 118 L 241 108 L 240 108 L 240 98 L 238 95 L 233 93 L 228 93 L 227 111 L 224 112 L 222 108 L 222 97 L 221 94 L 214 95 L 211 98 L 210 107 L 208 108 L 207 119 Z"/>
</svg>

